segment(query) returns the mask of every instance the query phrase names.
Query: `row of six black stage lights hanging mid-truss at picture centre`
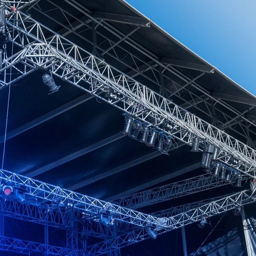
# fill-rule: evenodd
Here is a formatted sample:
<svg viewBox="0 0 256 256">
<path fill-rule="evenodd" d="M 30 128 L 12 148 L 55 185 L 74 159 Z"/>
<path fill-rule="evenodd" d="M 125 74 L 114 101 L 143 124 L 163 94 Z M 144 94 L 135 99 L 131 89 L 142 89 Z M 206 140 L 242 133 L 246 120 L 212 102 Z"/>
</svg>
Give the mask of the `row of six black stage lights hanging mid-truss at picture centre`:
<svg viewBox="0 0 256 256">
<path fill-rule="evenodd" d="M 172 126 L 167 123 L 163 123 L 163 129 L 171 130 Z M 126 122 L 121 133 L 128 135 L 132 139 L 138 140 L 141 143 L 145 143 L 148 147 L 155 148 L 163 154 L 168 154 L 172 145 L 172 139 L 170 136 L 166 136 L 163 132 L 158 131 L 155 128 L 150 128 L 148 125 L 140 122 L 140 120 L 133 119 L 130 116 L 126 116 Z"/>
</svg>

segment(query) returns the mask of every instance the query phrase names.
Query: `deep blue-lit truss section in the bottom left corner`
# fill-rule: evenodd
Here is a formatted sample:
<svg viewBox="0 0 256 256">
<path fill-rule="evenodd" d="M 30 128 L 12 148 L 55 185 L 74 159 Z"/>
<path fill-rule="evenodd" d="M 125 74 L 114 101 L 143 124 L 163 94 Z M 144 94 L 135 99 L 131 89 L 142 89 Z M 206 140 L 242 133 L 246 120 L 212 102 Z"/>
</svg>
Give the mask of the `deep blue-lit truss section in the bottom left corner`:
<svg viewBox="0 0 256 256">
<path fill-rule="evenodd" d="M 45 253 L 50 256 L 79 256 L 78 250 L 69 250 L 62 247 L 54 247 L 47 244 L 40 244 L 31 241 L 0 236 L 0 250 L 14 251 L 15 253 Z"/>
</svg>

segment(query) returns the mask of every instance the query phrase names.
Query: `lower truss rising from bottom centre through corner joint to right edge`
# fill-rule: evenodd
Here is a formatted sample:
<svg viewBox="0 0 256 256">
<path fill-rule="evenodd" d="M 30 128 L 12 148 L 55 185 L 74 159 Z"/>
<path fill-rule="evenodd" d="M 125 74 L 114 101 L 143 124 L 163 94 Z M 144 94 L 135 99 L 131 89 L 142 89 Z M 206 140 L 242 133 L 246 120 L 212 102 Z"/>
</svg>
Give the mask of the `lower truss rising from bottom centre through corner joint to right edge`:
<svg viewBox="0 0 256 256">
<path fill-rule="evenodd" d="M 248 191 L 241 191 L 220 199 L 217 198 L 216 201 L 210 201 L 209 203 L 199 207 L 193 207 L 185 212 L 181 211 L 181 213 L 173 215 L 169 218 L 162 218 L 163 222 L 166 221 L 167 227 L 165 229 L 162 229 L 161 227 L 153 228 L 155 229 L 157 235 L 160 235 L 170 230 L 200 221 L 203 217 L 209 218 L 211 216 L 236 209 L 241 205 L 254 203 L 255 201 L 256 195 L 249 195 Z M 87 247 L 85 250 L 87 255 L 99 256 L 102 255 L 102 253 L 107 253 L 113 250 L 114 245 L 118 245 L 121 248 L 149 238 L 145 228 L 143 229 L 137 227 L 134 229 L 124 230 L 124 232 L 125 233 L 114 239 L 109 239 L 102 243 Z"/>
</svg>

